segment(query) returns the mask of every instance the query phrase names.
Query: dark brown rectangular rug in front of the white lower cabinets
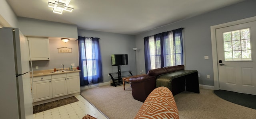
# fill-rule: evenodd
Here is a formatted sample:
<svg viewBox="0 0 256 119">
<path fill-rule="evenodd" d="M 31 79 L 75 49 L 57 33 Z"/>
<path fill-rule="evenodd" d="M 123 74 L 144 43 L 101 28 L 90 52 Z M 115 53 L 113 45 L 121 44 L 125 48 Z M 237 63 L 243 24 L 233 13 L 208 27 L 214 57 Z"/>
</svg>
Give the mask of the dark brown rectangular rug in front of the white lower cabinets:
<svg viewBox="0 0 256 119">
<path fill-rule="evenodd" d="M 53 108 L 56 108 L 56 107 L 60 107 L 60 106 L 63 106 L 63 105 L 67 105 L 67 104 L 70 104 L 70 103 L 74 103 L 74 102 L 77 102 L 79 101 L 75 96 L 73 97 L 69 97 L 69 98 L 64 98 L 64 99 L 59 99 L 59 100 L 56 100 L 56 101 L 51 101 L 51 102 L 48 102 L 48 103 L 44 103 L 44 104 L 41 104 L 41 105 L 34 105 L 33 106 L 33 113 L 39 113 L 39 112 L 42 112 L 42 111 L 46 111 L 48 109 L 53 109 Z"/>
</svg>

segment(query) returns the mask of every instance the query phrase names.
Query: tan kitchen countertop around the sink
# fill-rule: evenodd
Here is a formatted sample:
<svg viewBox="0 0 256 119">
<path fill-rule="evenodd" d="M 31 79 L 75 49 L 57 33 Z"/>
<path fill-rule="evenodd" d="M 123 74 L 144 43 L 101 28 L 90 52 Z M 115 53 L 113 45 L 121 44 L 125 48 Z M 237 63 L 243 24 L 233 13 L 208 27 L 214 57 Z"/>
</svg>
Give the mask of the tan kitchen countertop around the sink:
<svg viewBox="0 0 256 119">
<path fill-rule="evenodd" d="M 54 74 L 64 74 L 64 73 L 72 73 L 72 72 L 80 72 L 81 70 L 72 70 L 72 71 L 66 71 L 66 72 L 53 72 L 54 70 L 39 70 L 39 71 L 33 71 L 33 76 L 46 76 L 46 75 L 54 75 Z M 30 77 L 32 77 L 32 72 L 30 72 Z"/>
</svg>

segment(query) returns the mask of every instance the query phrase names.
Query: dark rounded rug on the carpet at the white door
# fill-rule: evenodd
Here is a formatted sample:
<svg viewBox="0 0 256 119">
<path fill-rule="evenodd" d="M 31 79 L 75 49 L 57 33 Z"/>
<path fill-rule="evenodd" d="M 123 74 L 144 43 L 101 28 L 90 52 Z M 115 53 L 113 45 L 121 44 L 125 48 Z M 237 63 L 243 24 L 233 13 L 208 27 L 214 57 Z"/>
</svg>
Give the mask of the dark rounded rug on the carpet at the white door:
<svg viewBox="0 0 256 119">
<path fill-rule="evenodd" d="M 214 94 L 232 103 L 256 109 L 256 95 L 242 94 L 226 90 L 214 90 Z"/>
</svg>

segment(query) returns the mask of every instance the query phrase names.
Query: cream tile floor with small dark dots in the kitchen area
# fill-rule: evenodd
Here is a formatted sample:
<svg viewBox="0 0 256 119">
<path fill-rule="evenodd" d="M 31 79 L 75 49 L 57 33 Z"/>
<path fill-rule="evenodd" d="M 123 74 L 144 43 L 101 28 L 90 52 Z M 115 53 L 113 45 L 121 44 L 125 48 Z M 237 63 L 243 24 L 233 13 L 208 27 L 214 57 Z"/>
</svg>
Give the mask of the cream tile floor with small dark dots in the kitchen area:
<svg viewBox="0 0 256 119">
<path fill-rule="evenodd" d="M 75 103 L 36 113 L 34 119 L 82 119 L 87 114 L 97 119 L 108 119 L 81 95 L 76 98 L 79 101 Z"/>
</svg>

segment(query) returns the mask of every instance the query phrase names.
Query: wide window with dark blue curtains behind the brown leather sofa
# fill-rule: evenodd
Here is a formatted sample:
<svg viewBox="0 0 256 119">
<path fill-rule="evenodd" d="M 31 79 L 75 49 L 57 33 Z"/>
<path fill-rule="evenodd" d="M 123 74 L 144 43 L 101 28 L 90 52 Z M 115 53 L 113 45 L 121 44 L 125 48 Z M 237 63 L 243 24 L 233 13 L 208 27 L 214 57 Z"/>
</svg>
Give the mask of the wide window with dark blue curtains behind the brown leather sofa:
<svg viewBox="0 0 256 119">
<path fill-rule="evenodd" d="M 182 30 L 180 28 L 144 38 L 146 72 L 183 64 Z"/>
</svg>

